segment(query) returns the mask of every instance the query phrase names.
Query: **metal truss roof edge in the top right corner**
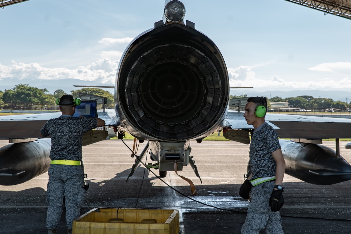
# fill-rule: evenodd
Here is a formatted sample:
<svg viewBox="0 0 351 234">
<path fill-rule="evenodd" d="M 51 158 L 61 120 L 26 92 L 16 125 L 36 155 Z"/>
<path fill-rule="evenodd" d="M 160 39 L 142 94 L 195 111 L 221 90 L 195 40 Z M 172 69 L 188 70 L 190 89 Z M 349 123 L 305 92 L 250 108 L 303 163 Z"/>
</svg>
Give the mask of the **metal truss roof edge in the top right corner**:
<svg viewBox="0 0 351 234">
<path fill-rule="evenodd" d="M 351 0 L 285 0 L 310 7 L 326 14 L 333 14 L 351 19 Z"/>
</svg>

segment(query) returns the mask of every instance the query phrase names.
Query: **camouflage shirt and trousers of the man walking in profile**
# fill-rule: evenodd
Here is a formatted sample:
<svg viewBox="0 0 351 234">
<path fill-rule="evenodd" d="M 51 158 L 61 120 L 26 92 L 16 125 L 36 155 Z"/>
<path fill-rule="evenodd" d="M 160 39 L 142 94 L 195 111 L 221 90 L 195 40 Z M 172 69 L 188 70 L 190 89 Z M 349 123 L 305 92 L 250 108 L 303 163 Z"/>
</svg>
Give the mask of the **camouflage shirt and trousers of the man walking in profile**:
<svg viewBox="0 0 351 234">
<path fill-rule="evenodd" d="M 272 152 L 281 149 L 277 132 L 267 123 L 255 129 L 250 144 L 250 166 L 252 178 L 272 177 L 276 175 L 277 163 Z M 283 234 L 282 219 L 279 212 L 272 212 L 269 200 L 275 181 L 257 184 L 251 190 L 251 202 L 241 234 Z"/>
</svg>

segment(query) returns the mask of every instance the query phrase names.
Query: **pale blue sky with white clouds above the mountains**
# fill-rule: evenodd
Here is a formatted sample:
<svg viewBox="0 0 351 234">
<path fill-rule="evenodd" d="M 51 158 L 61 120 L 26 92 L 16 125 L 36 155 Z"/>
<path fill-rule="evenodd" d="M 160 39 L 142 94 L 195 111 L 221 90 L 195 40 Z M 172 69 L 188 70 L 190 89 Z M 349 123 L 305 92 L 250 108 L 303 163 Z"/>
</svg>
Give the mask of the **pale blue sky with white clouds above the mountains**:
<svg viewBox="0 0 351 234">
<path fill-rule="evenodd" d="M 350 91 L 351 20 L 284 0 L 182 2 L 185 19 L 223 54 L 230 85 Z M 164 3 L 30 0 L 0 8 L 0 85 L 5 78 L 114 84 L 124 49 L 162 19 Z"/>
</svg>

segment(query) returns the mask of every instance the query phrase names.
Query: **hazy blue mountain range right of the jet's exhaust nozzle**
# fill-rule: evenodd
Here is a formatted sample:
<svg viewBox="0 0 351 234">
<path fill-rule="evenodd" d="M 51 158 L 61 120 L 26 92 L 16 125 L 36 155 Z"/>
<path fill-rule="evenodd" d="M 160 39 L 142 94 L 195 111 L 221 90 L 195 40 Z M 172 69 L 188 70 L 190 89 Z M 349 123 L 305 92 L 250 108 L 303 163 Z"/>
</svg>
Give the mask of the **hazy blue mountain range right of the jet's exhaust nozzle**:
<svg viewBox="0 0 351 234">
<path fill-rule="evenodd" d="M 333 90 L 333 91 L 322 91 L 322 90 L 292 90 L 292 91 L 263 91 L 257 92 L 250 89 L 233 89 L 230 90 L 231 95 L 247 95 L 248 97 L 253 96 L 262 96 L 267 98 L 272 97 L 298 97 L 298 96 L 312 96 L 313 98 L 331 98 L 333 101 L 342 101 L 349 103 L 351 101 L 351 92 L 349 91 L 340 91 L 340 90 Z M 346 101 L 347 100 L 347 101 Z"/>
</svg>

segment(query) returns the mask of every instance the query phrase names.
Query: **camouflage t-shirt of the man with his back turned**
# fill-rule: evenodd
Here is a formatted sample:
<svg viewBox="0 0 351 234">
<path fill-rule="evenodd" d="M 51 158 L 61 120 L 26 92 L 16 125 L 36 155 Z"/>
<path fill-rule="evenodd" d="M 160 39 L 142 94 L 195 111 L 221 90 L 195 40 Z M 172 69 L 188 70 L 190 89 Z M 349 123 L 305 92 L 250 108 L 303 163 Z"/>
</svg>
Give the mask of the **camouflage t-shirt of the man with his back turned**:
<svg viewBox="0 0 351 234">
<path fill-rule="evenodd" d="M 44 137 L 51 137 L 51 160 L 81 160 L 82 136 L 85 132 L 97 127 L 97 119 L 62 115 L 49 119 L 41 128 Z"/>
</svg>

